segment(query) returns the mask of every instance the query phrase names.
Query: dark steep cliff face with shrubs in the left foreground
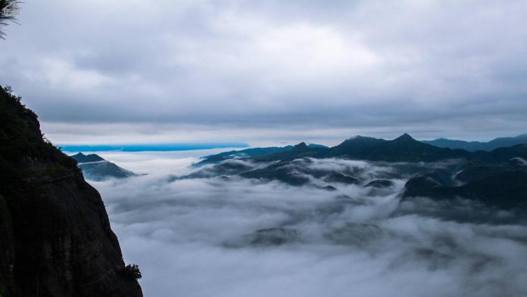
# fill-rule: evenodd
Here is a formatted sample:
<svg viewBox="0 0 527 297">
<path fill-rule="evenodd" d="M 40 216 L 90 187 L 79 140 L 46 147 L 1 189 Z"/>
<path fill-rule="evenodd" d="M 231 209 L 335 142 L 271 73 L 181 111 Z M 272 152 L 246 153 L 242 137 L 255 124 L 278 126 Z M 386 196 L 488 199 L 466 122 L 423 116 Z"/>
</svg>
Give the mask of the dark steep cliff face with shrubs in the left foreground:
<svg viewBox="0 0 527 297">
<path fill-rule="evenodd" d="M 143 296 L 99 192 L 2 88 L 0 296 Z"/>
</svg>

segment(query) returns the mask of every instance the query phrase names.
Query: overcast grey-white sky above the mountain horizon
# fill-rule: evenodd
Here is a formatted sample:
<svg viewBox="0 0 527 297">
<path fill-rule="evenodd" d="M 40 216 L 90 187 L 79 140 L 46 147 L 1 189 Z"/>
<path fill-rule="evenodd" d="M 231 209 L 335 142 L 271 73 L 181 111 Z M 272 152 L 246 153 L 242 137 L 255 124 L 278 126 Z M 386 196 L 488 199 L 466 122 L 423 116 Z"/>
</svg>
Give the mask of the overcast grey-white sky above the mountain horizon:
<svg viewBox="0 0 527 297">
<path fill-rule="evenodd" d="M 527 132 L 527 2 L 25 1 L 0 40 L 55 143 Z"/>
</svg>

